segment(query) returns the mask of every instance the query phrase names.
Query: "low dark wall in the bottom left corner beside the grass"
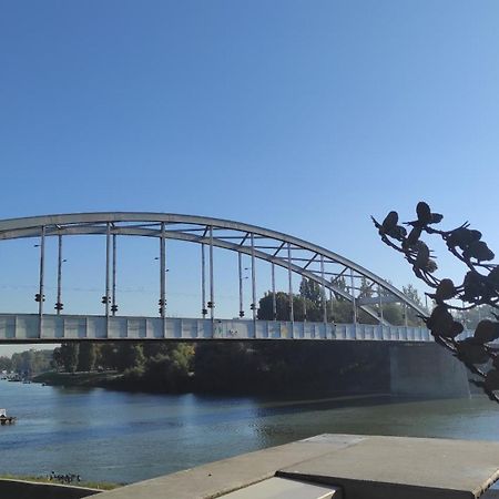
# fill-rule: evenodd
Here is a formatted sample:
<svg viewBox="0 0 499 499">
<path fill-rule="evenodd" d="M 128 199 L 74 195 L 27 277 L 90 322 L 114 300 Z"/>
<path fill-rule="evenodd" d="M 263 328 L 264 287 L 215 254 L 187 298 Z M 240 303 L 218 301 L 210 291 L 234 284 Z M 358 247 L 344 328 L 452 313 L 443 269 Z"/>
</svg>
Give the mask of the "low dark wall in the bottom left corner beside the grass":
<svg viewBox="0 0 499 499">
<path fill-rule="evenodd" d="M 80 499 L 102 490 L 58 483 L 0 479 L 1 499 Z"/>
</svg>

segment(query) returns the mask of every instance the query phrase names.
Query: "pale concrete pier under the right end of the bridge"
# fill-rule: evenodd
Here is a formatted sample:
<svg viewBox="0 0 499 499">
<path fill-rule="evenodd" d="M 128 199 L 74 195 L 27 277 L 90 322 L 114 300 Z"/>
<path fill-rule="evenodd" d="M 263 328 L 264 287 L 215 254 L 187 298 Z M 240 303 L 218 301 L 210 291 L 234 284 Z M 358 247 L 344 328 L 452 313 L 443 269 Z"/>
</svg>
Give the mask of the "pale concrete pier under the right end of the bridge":
<svg viewBox="0 0 499 499">
<path fill-rule="evenodd" d="M 469 397 L 466 367 L 434 344 L 389 346 L 390 393 L 428 397 Z"/>
</svg>

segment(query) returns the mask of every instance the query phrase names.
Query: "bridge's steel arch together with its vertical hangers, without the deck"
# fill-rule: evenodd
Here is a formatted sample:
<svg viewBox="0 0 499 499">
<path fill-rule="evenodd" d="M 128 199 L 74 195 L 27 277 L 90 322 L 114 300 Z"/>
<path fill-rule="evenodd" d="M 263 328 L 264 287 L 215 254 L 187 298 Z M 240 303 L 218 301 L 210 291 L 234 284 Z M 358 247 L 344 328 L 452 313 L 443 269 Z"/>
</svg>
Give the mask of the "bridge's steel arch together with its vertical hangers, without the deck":
<svg viewBox="0 0 499 499">
<path fill-rule="evenodd" d="M 213 279 L 213 248 L 220 247 L 237 253 L 240 259 L 240 316 L 244 316 L 242 304 L 242 268 L 241 256 L 247 255 L 252 259 L 252 313 L 256 320 L 256 271 L 255 259 L 266 261 L 272 267 L 273 296 L 275 298 L 274 267 L 281 266 L 287 269 L 289 275 L 288 293 L 293 295 L 292 274 L 298 274 L 318 283 L 322 287 L 324 304 L 324 324 L 327 323 L 326 293 L 334 293 L 348 299 L 353 304 L 354 323 L 356 323 L 357 309 L 363 309 L 375 317 L 381 326 L 389 326 L 383 317 L 383 312 L 378 313 L 373 305 L 381 305 L 386 302 L 399 302 L 416 313 L 424 315 L 418 304 L 411 302 L 404 293 L 395 286 L 377 276 L 369 269 L 355 262 L 338 255 L 329 249 L 301 240 L 298 237 L 272 231 L 268 228 L 248 225 L 222 218 L 212 218 L 195 215 L 181 215 L 171 213 L 136 213 L 136 212 L 103 212 L 103 213 L 73 213 L 55 214 L 44 216 L 33 216 L 23 218 L 10 218 L 0 221 L 0 240 L 14 240 L 34 237 L 39 238 L 40 246 L 40 285 L 39 296 L 43 296 L 44 286 L 44 242 L 47 237 L 59 238 L 59 279 L 58 279 L 58 304 L 61 304 L 61 248 L 63 238 L 75 235 L 101 235 L 106 238 L 106 268 L 105 268 L 105 315 L 100 318 L 105 319 L 105 336 L 109 337 L 110 319 L 115 317 L 118 306 L 115 296 L 115 261 L 116 261 L 116 238 L 120 236 L 156 237 L 160 241 L 160 306 L 163 323 L 166 322 L 166 296 L 165 296 L 165 242 L 177 240 L 189 243 L 196 243 L 201 247 L 202 266 L 202 316 L 210 315 L 212 322 L 215 319 L 215 289 Z M 348 287 L 338 286 L 339 281 L 346 281 Z M 359 295 L 360 286 L 370 289 L 368 297 Z M 291 302 L 289 323 L 294 323 L 293 299 Z M 62 307 L 61 307 L 62 308 Z M 383 310 L 383 307 L 378 307 Z M 57 316 L 61 316 L 61 309 L 57 310 Z M 68 316 L 65 316 L 68 317 Z M 79 317 L 79 316 L 73 316 Z M 44 338 L 44 329 L 52 323 L 57 326 L 58 319 L 54 315 L 49 316 L 43 310 L 43 299 L 39 301 L 39 312 L 37 316 L 19 317 L 8 314 L 0 316 L 0 340 L 23 339 L 22 335 L 17 336 L 12 330 L 21 330 L 20 323 L 33 322 L 38 318 L 38 338 Z M 274 299 L 275 318 L 275 299 Z M 3 320 L 3 323 L 2 323 Z M 69 320 L 69 318 L 68 318 Z M 67 320 L 67 322 L 68 322 Z M 157 320 L 157 318 L 156 318 Z M 170 320 L 170 319 L 169 319 Z M 14 322 L 14 326 L 12 326 Z M 43 322 L 45 323 L 43 325 Z M 60 323 L 61 320 L 59 320 Z M 3 324 L 3 326 L 2 326 Z M 103 323 L 104 324 L 104 323 Z M 65 326 L 64 326 L 65 327 Z M 13 329 L 12 329 L 13 328 Z M 31 338 L 34 333 L 29 333 L 26 328 L 24 336 Z M 79 329 L 80 330 L 80 329 Z M 166 326 L 163 325 L 163 330 Z M 3 333 L 2 333 L 3 332 Z M 8 333 L 10 332 L 10 333 Z M 45 332 L 47 333 L 47 332 Z M 102 332 L 101 332 L 102 333 Z M 102 336 L 95 335 L 94 338 Z M 214 334 L 212 328 L 212 335 Z M 256 335 L 256 326 L 254 328 Z M 92 339 L 91 336 L 81 336 Z M 47 335 L 45 335 L 47 336 Z M 50 335 L 49 335 L 50 336 Z M 55 335 L 57 336 L 57 335 Z M 147 337 L 147 334 L 142 334 Z M 165 335 L 167 336 L 167 335 Z M 58 337 L 61 337 L 60 335 Z M 71 338 L 64 335 L 63 338 Z M 155 337 L 155 336 L 154 336 Z M 24 339 L 28 339 L 27 337 Z"/>
</svg>

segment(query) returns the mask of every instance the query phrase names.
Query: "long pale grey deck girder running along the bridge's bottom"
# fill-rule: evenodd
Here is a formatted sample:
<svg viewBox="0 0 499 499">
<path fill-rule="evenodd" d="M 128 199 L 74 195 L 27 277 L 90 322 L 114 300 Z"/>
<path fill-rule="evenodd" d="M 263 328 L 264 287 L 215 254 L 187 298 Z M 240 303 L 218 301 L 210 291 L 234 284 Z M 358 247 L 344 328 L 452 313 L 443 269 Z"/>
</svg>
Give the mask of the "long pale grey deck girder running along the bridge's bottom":
<svg viewBox="0 0 499 499">
<path fill-rule="evenodd" d="M 0 314 L 0 343 L 85 339 L 432 342 L 424 327 L 273 320 Z"/>
</svg>

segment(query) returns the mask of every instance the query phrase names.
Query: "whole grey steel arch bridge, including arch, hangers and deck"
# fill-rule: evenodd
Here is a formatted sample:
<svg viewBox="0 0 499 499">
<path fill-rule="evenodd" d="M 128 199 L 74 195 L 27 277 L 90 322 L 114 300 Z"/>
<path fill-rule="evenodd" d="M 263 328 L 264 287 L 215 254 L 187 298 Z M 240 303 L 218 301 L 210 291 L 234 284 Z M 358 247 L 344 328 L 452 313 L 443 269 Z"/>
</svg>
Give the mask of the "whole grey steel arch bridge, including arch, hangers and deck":
<svg viewBox="0 0 499 499">
<path fill-rule="evenodd" d="M 105 271 L 102 304 L 104 314 L 65 315 L 62 303 L 62 255 L 67 237 L 95 235 L 105 238 Z M 159 241 L 159 317 L 120 316 L 116 303 L 116 241 L 120 237 L 153 237 Z M 45 241 L 58 238 L 55 313 L 44 309 Z M 0 221 L 0 240 L 35 238 L 40 249 L 37 314 L 0 314 L 0 342 L 62 342 L 72 339 L 385 339 L 430 340 L 426 328 L 395 327 L 383 316 L 383 305 L 401 303 L 417 314 L 425 310 L 395 286 L 355 262 L 298 237 L 221 218 L 170 213 L 74 213 Z M 194 243 L 200 247 L 201 303 L 198 318 L 167 317 L 166 242 Z M 238 319 L 216 315 L 214 248 L 233 252 L 238 268 Z M 251 319 L 245 319 L 242 258 L 251 259 Z M 256 261 L 269 271 L 273 320 L 257 319 Z M 289 317 L 276 320 L 275 269 L 287 273 Z M 297 322 L 294 310 L 293 275 L 317 283 L 320 289 L 322 322 Z M 346 285 L 345 285 L 346 284 Z M 353 324 L 337 325 L 328 314 L 328 297 L 348 301 Z M 377 325 L 358 324 L 363 310 Z M 407 314 L 405 314 L 407 317 Z M 305 312 L 306 317 L 306 312 Z M 407 324 L 406 324 L 407 326 Z"/>
</svg>

